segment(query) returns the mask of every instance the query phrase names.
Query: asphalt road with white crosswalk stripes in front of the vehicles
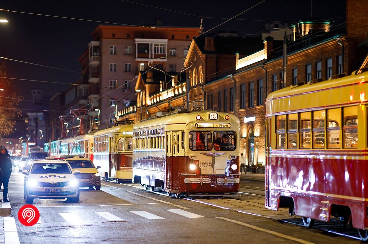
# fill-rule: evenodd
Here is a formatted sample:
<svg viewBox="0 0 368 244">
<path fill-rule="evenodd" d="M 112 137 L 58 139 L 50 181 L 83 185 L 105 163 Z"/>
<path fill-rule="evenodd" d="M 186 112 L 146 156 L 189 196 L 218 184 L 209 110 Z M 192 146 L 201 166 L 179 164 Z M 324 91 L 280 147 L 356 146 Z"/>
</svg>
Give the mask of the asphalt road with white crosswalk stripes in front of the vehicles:
<svg viewBox="0 0 368 244">
<path fill-rule="evenodd" d="M 251 180 L 235 196 L 183 199 L 103 182 L 99 191 L 82 188 L 79 203 L 35 199 L 40 220 L 27 227 L 17 219 L 23 180 L 14 171 L 9 183 L 21 243 L 359 243 L 280 221 L 291 217 L 265 209 L 264 183 Z"/>
</svg>

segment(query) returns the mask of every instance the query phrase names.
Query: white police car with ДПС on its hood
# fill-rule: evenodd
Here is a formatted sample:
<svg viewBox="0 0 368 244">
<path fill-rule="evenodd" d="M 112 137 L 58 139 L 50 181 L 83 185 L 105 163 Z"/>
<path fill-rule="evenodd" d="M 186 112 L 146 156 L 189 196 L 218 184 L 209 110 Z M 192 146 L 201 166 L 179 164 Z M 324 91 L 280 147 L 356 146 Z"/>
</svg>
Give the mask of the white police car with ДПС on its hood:
<svg viewBox="0 0 368 244">
<path fill-rule="evenodd" d="M 34 198 L 60 199 L 67 198 L 68 202 L 79 201 L 79 186 L 75 175 L 79 171 L 72 171 L 65 160 L 33 161 L 28 171 L 22 173 L 24 179 L 24 200 L 32 204 Z"/>
</svg>

